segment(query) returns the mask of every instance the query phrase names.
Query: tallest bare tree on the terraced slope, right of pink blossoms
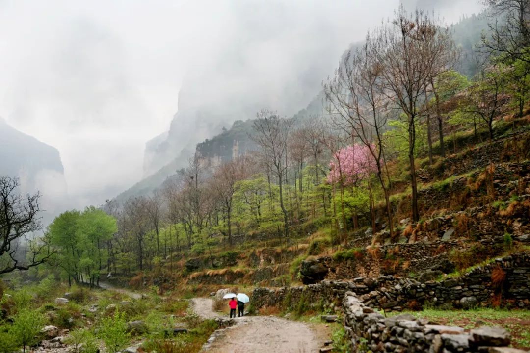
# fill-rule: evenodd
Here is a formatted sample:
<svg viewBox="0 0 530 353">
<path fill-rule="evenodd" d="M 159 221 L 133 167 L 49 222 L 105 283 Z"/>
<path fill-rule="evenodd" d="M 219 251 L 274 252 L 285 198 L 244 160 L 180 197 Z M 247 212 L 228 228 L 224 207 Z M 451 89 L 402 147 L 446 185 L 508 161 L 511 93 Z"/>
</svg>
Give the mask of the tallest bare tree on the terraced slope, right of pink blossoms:
<svg viewBox="0 0 530 353">
<path fill-rule="evenodd" d="M 446 30 L 427 14 L 416 11 L 410 16 L 400 7 L 395 19 L 376 30 L 370 37 L 370 53 L 383 78 L 381 92 L 405 115 L 408 125 L 409 165 L 412 187 L 412 219 L 419 220 L 418 184 L 414 164 L 416 126 L 425 110 L 425 92 L 431 83 L 438 61 L 430 52 L 430 43 Z"/>
</svg>

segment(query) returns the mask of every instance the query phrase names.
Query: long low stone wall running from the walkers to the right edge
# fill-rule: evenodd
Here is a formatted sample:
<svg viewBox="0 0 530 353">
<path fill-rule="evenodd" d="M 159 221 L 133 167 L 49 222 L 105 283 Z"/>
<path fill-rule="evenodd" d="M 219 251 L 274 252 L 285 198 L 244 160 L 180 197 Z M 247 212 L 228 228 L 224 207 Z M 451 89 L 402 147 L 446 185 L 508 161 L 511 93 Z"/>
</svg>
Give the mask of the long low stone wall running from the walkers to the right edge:
<svg viewBox="0 0 530 353">
<path fill-rule="evenodd" d="M 355 292 L 367 306 L 385 311 L 416 309 L 423 303 L 442 308 L 487 306 L 498 289 L 491 283 L 491 273 L 500 267 L 506 272 L 501 298 L 517 307 L 530 307 L 530 254 L 522 252 L 499 258 L 477 267 L 458 278 L 421 283 L 412 278 L 378 276 L 357 277 L 352 281 L 323 280 L 318 284 L 279 289 L 256 288 L 252 294 L 254 307 L 338 302 L 347 291 Z"/>
</svg>

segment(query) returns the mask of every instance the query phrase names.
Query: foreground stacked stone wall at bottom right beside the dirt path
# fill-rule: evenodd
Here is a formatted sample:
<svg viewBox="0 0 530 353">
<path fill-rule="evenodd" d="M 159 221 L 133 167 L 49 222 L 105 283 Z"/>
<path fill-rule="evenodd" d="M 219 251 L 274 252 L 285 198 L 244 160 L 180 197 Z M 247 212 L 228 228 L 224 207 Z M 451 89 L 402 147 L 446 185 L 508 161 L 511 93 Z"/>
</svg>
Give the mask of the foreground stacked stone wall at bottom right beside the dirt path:
<svg viewBox="0 0 530 353">
<path fill-rule="evenodd" d="M 357 352 L 470 352 L 524 353 L 508 348 L 509 333 L 501 327 L 480 327 L 470 332 L 457 326 L 430 324 L 413 315 L 385 318 L 366 306 L 353 292 L 343 301 L 344 324 Z"/>
</svg>

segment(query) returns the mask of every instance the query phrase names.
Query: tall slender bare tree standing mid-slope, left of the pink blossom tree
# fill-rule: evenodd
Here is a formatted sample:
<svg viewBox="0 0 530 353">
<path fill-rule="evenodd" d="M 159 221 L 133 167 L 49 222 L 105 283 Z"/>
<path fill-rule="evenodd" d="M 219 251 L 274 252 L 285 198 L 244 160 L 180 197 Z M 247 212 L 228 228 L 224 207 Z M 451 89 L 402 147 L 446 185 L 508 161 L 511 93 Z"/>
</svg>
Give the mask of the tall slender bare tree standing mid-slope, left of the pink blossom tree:
<svg viewBox="0 0 530 353">
<path fill-rule="evenodd" d="M 287 173 L 287 147 L 293 121 L 279 117 L 275 112 L 262 110 L 254 121 L 252 140 L 261 148 L 261 158 L 278 177 L 280 207 L 284 214 L 284 232 L 289 239 L 289 216 L 284 203 L 284 189 Z"/>
</svg>

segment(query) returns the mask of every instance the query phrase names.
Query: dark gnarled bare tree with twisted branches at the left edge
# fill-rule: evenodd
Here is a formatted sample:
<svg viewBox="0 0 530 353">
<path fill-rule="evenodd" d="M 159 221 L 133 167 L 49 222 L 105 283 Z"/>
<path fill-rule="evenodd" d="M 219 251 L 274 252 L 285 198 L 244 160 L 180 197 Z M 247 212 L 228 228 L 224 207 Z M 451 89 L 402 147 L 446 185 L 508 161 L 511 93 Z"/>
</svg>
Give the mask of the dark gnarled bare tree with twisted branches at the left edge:
<svg viewBox="0 0 530 353">
<path fill-rule="evenodd" d="M 28 238 L 42 229 L 38 218 L 40 194 L 16 193 L 18 178 L 0 177 L 0 274 L 28 270 L 48 260 L 54 252 L 47 237 Z M 31 259 L 20 254 L 21 241 L 28 242 Z"/>
</svg>

